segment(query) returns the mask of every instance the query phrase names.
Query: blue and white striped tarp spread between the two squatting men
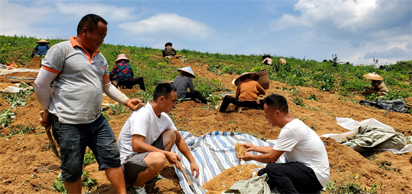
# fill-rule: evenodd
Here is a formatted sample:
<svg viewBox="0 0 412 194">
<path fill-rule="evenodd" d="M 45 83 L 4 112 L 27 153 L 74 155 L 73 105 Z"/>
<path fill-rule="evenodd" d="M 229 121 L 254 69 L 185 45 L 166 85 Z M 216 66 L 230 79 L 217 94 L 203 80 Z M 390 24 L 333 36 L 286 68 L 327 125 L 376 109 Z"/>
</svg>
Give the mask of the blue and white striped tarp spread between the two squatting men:
<svg viewBox="0 0 412 194">
<path fill-rule="evenodd" d="M 260 146 L 274 145 L 273 143 L 262 141 L 249 134 L 209 132 L 208 134 L 204 134 L 199 137 L 194 136 L 190 132 L 180 132 L 180 134 L 187 143 L 187 146 L 192 152 L 192 156 L 194 156 L 196 164 L 200 169 L 200 175 L 197 180 L 191 176 L 192 172 L 190 171 L 189 160 L 187 160 L 187 158 L 185 158 L 185 156 L 183 156 L 183 154 L 176 148 L 176 145 L 172 147 L 172 151 L 176 151 L 181 158 L 181 165 L 183 169 L 185 169 L 187 175 L 192 178 L 196 193 L 206 193 L 206 191 L 202 189 L 203 184 L 214 178 L 216 175 L 222 173 L 222 171 L 225 171 L 225 169 L 238 165 L 238 159 L 236 158 L 236 152 L 234 149 L 236 143 L 251 143 L 253 145 Z M 256 155 L 258 153 L 253 151 L 252 154 Z M 277 160 L 277 162 L 282 163 L 285 161 L 286 160 L 283 155 L 279 158 L 279 160 Z M 244 162 L 244 160 L 242 160 L 241 164 L 256 164 L 261 167 L 266 166 L 266 164 L 261 162 Z M 189 187 L 189 184 L 187 184 L 185 178 L 183 177 L 183 173 L 181 173 L 181 171 L 176 167 L 174 167 L 174 171 L 176 171 L 176 174 L 179 177 L 179 182 L 183 191 L 185 193 L 193 193 Z"/>
</svg>

